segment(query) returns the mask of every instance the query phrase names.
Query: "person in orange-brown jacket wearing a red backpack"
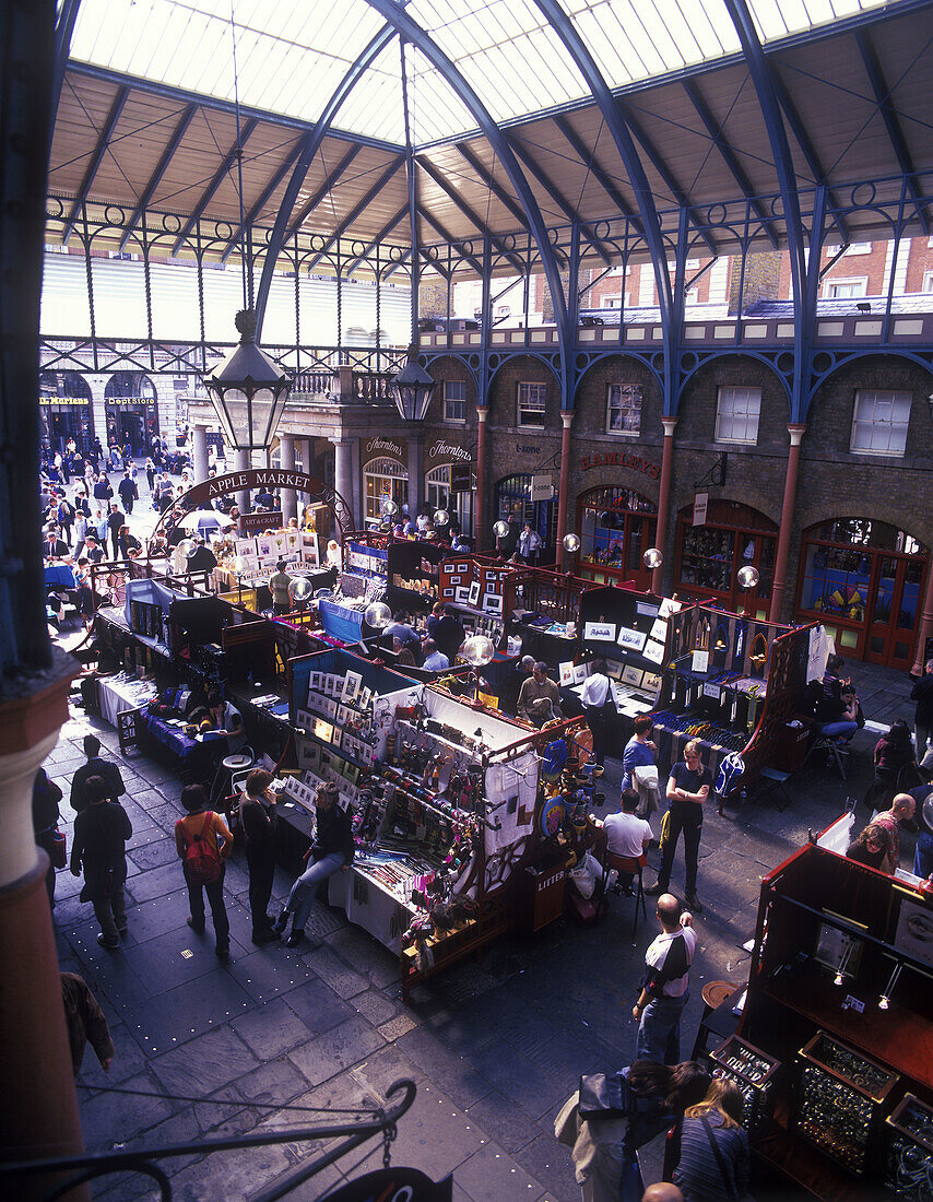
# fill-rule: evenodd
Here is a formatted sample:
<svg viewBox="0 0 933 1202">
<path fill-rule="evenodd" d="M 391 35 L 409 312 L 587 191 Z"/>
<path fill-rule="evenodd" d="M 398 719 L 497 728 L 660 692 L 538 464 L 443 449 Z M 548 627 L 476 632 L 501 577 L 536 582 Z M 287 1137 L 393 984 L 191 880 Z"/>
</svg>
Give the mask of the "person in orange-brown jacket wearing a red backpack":
<svg viewBox="0 0 933 1202">
<path fill-rule="evenodd" d="M 230 920 L 224 905 L 224 870 L 233 850 L 233 835 L 224 819 L 207 809 L 203 785 L 185 785 L 182 804 L 185 817 L 176 822 L 176 849 L 182 861 L 191 914 L 188 926 L 197 935 L 204 933 L 204 893 L 210 903 L 216 956 L 230 958 Z"/>
</svg>

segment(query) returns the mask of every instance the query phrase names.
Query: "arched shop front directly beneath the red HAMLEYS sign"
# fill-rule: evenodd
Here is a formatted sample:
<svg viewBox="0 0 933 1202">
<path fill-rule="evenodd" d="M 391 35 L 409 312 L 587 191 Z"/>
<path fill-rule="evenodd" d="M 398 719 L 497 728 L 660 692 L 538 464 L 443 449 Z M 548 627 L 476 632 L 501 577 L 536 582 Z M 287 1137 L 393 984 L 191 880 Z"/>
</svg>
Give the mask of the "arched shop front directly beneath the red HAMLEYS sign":
<svg viewBox="0 0 933 1202">
<path fill-rule="evenodd" d="M 640 590 L 650 588 L 652 573 L 642 555 L 655 546 L 655 513 L 654 501 L 631 488 L 606 486 L 582 493 L 577 575 L 596 584 L 634 579 Z"/>
</svg>

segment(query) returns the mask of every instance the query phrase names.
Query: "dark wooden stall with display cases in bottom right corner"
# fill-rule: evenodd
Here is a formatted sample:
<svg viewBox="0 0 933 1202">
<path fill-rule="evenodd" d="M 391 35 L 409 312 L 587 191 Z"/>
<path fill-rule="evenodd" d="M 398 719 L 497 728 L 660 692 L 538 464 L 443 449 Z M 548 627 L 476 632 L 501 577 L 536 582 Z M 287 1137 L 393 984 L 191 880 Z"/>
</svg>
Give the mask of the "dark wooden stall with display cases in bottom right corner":
<svg viewBox="0 0 933 1202">
<path fill-rule="evenodd" d="M 754 1107 L 753 1194 L 933 1197 L 931 984 L 933 893 L 916 877 L 808 844 L 763 879 L 719 1057 Z"/>
</svg>

